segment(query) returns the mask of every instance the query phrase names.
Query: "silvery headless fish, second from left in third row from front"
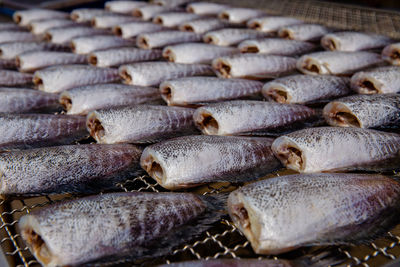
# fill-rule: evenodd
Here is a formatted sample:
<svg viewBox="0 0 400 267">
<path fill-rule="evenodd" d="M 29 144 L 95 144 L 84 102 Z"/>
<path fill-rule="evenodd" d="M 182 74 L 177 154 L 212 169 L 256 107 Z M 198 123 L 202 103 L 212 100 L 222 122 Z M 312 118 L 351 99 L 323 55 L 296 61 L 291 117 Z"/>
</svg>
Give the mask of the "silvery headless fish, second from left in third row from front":
<svg viewBox="0 0 400 267">
<path fill-rule="evenodd" d="M 154 105 L 96 110 L 87 115 L 87 129 L 100 144 L 151 143 L 196 133 L 194 109 Z"/>
</svg>

